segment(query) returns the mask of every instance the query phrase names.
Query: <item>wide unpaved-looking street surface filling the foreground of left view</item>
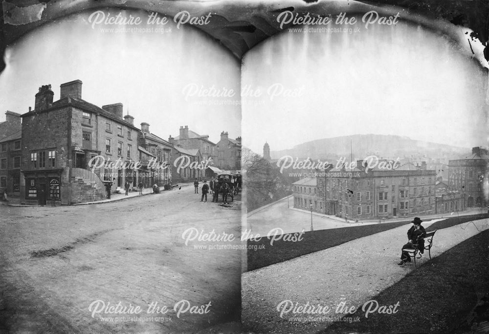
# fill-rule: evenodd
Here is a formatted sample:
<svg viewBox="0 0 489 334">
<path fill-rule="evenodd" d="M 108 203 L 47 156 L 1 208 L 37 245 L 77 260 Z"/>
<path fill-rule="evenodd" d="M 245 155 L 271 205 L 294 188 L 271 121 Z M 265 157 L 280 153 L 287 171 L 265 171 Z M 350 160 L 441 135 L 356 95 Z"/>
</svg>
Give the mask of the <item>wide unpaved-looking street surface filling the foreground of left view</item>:
<svg viewBox="0 0 489 334">
<path fill-rule="evenodd" d="M 210 196 L 186 186 L 98 205 L 0 205 L 0 332 L 184 333 L 239 321 L 241 196 L 229 206 Z M 189 228 L 236 238 L 185 245 Z"/>
</svg>

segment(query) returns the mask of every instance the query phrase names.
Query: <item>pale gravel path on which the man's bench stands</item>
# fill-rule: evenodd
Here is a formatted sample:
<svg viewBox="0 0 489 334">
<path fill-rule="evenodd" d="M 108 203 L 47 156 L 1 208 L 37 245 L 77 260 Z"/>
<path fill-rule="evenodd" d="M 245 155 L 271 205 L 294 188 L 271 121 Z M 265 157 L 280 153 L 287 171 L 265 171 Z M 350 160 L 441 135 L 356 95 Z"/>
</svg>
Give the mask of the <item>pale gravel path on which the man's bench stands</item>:
<svg viewBox="0 0 489 334">
<path fill-rule="evenodd" d="M 435 220 L 423 223 L 423 226 L 428 227 L 434 222 Z M 476 220 L 474 223 L 438 230 L 433 239 L 431 256 L 436 257 L 480 231 L 489 229 L 488 219 Z M 403 225 L 244 273 L 244 325 L 259 333 L 314 333 L 326 328 L 334 317 L 341 315 L 336 313 L 341 302 L 346 307 L 361 307 L 380 291 L 414 270 L 414 264 L 404 267 L 396 264 L 400 261 L 400 247 L 406 242 L 406 233 L 410 226 L 411 224 Z M 429 261 L 427 254 L 418 263 L 426 261 Z M 309 303 L 315 307 L 329 307 L 329 311 L 318 315 L 301 313 L 301 310 L 296 309 L 298 312 L 295 314 L 289 311 L 280 317 L 277 307 L 287 300 L 291 305 Z M 399 308 L 402 307 L 404 306 L 400 301 Z M 293 307 L 288 306 L 284 310 L 287 309 Z"/>
</svg>

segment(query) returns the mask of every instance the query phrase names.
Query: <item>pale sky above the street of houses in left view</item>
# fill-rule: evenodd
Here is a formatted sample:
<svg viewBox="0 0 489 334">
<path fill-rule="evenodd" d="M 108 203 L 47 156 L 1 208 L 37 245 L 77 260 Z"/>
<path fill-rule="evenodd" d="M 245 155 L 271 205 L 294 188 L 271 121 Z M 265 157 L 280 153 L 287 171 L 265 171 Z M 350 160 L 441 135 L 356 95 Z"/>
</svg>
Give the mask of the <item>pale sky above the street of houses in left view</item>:
<svg viewBox="0 0 489 334">
<path fill-rule="evenodd" d="M 44 25 L 7 48 L 0 121 L 7 110 L 23 114 L 29 106 L 34 109 L 42 85 L 51 84 L 57 100 L 62 83 L 80 79 L 84 100 L 99 107 L 120 102 L 137 127 L 147 122 L 165 140 L 178 136 L 185 125 L 214 143 L 222 131 L 230 138 L 241 136 L 240 62 L 227 49 L 189 25 L 177 28 L 171 20 L 146 24 L 146 12 L 123 11 L 126 18 L 142 21 L 125 26 L 93 24 L 93 12 Z M 118 13 L 105 9 L 99 15 Z M 121 32 L 124 27 L 153 31 Z M 230 95 L 231 90 L 237 94 Z"/>
</svg>

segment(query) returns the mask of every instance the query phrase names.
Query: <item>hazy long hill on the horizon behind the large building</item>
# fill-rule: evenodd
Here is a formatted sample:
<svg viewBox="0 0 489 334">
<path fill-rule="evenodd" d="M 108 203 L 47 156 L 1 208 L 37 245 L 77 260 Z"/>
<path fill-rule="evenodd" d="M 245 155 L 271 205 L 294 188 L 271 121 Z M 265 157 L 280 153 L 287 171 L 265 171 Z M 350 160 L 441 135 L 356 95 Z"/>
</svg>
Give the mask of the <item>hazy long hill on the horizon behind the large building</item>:
<svg viewBox="0 0 489 334">
<path fill-rule="evenodd" d="M 422 142 L 404 136 L 369 134 L 318 139 L 296 145 L 291 149 L 270 151 L 270 156 L 272 159 L 279 159 L 285 155 L 299 159 L 346 157 L 350 161 L 350 142 L 353 147 L 354 159 L 376 155 L 378 158 L 384 159 L 427 157 L 448 160 L 465 158 L 471 152 L 471 148 L 467 147 Z"/>
</svg>

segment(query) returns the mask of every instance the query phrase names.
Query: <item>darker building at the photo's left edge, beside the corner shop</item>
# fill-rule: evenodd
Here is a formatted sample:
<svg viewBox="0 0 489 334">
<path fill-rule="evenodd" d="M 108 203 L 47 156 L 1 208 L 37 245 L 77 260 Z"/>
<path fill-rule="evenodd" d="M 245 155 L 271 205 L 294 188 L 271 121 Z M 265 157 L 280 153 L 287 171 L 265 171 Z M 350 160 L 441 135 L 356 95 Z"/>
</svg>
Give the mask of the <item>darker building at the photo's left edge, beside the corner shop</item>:
<svg viewBox="0 0 489 334">
<path fill-rule="evenodd" d="M 7 111 L 0 123 L 0 193 L 20 194 L 22 160 L 21 115 Z"/>
</svg>

